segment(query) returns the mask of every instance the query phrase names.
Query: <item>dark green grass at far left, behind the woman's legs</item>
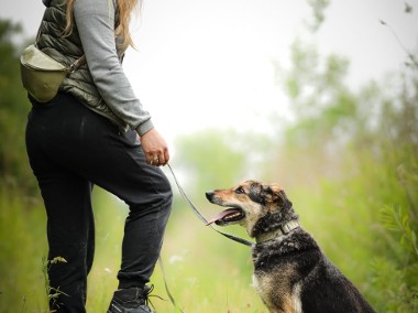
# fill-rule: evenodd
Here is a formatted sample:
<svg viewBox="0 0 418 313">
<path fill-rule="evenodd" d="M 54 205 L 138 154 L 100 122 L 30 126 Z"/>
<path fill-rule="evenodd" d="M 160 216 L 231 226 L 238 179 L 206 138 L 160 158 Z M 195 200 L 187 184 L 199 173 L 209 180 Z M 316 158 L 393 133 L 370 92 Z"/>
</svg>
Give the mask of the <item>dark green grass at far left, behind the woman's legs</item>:
<svg viewBox="0 0 418 313">
<path fill-rule="evenodd" d="M 40 203 L 0 184 L 0 312 L 47 312 L 45 229 Z"/>
</svg>

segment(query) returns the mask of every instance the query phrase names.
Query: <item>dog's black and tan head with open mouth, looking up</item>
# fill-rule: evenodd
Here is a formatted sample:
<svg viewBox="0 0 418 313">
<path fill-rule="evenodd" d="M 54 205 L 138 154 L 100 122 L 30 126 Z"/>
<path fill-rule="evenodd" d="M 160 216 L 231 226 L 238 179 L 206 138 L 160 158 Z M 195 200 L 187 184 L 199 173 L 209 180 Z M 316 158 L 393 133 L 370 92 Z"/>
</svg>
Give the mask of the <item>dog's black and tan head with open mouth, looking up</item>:
<svg viewBox="0 0 418 313">
<path fill-rule="evenodd" d="M 246 181 L 232 188 L 207 192 L 206 197 L 213 204 L 228 207 L 209 224 L 239 224 L 250 237 L 275 230 L 298 218 L 292 202 L 276 184 Z"/>
</svg>

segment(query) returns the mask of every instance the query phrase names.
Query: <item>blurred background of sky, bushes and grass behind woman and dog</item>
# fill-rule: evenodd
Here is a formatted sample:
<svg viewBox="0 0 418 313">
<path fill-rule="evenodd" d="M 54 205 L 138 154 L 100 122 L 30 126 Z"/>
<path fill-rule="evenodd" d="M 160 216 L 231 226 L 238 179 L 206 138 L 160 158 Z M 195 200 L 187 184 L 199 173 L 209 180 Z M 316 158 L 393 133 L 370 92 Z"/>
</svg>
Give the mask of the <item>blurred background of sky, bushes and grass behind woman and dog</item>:
<svg viewBox="0 0 418 313">
<path fill-rule="evenodd" d="M 0 4 L 0 312 L 47 312 L 46 217 L 28 164 L 19 54 L 41 1 Z M 418 1 L 155 0 L 124 68 L 207 218 L 205 192 L 279 183 L 302 226 L 377 312 L 418 311 Z M 177 192 L 162 259 L 184 312 L 266 312 L 248 247 Z M 95 188 L 88 312 L 117 287 L 127 206 Z M 245 237 L 239 227 L 222 229 Z M 152 299 L 175 312 L 156 268 Z"/>
</svg>

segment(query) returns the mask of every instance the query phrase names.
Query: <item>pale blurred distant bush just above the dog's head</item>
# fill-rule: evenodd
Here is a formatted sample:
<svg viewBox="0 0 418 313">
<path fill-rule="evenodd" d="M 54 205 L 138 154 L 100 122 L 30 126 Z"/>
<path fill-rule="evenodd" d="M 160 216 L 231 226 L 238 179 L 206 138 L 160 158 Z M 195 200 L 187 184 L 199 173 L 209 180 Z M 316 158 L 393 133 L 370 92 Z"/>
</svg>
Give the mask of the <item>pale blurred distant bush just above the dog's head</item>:
<svg viewBox="0 0 418 313">
<path fill-rule="evenodd" d="M 187 174 L 189 192 L 201 193 L 237 184 L 253 174 L 254 163 L 263 161 L 270 144 L 268 138 L 252 133 L 206 129 L 178 138 L 174 164 Z"/>
</svg>

